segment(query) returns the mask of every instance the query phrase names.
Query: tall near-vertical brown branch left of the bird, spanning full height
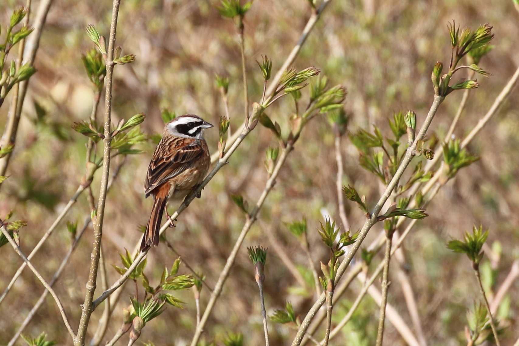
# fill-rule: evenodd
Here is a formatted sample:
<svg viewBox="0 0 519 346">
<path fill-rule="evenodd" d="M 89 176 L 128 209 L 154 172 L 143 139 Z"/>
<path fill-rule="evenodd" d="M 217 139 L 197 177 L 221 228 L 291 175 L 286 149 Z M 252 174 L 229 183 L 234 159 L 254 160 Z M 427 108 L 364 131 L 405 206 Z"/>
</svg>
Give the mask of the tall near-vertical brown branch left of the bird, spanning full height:
<svg viewBox="0 0 519 346">
<path fill-rule="evenodd" d="M 110 25 L 110 38 L 108 39 L 108 51 L 106 57 L 106 88 L 105 88 L 105 114 L 104 114 L 104 151 L 103 151 L 103 175 L 99 191 L 97 215 L 94 216 L 94 243 L 90 260 L 90 271 L 86 284 L 85 301 L 81 307 L 81 319 L 74 339 L 74 346 L 84 346 L 88 323 L 93 312 L 92 300 L 95 292 L 99 257 L 101 251 L 101 238 L 103 235 L 103 219 L 108 188 L 108 176 L 110 175 L 110 142 L 112 141 L 111 112 L 112 112 L 112 78 L 114 70 L 115 35 L 117 31 L 117 16 L 120 0 L 114 0 L 112 7 L 112 22 Z"/>
</svg>

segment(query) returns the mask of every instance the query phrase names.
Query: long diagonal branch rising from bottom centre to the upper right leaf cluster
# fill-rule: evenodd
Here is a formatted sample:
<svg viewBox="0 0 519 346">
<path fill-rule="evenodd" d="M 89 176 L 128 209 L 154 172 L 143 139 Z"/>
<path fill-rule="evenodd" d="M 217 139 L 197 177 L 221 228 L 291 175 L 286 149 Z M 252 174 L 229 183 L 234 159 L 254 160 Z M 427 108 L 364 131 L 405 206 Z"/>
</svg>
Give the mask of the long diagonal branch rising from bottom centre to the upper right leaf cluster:
<svg viewBox="0 0 519 346">
<path fill-rule="evenodd" d="M 422 127 L 420 128 L 420 131 L 416 135 L 415 141 L 413 142 L 413 144 L 411 146 L 409 146 L 407 148 L 405 156 L 402 159 L 402 162 L 399 165 L 397 172 L 395 172 L 393 178 L 391 179 L 388 186 L 386 187 L 386 190 L 384 191 L 383 195 L 380 197 L 377 204 L 375 205 L 375 208 L 373 210 L 371 217 L 369 219 L 367 219 L 366 222 L 364 223 L 364 226 L 362 227 L 362 229 L 360 231 L 358 240 L 351 246 L 350 251 L 345 256 L 343 261 L 341 262 L 341 264 L 337 270 L 336 282 L 338 280 L 340 280 L 340 278 L 343 276 L 345 270 L 348 268 L 351 260 L 353 259 L 353 256 L 357 253 L 357 250 L 359 249 L 360 245 L 362 244 L 362 241 L 366 237 L 367 232 L 371 229 L 371 227 L 373 227 L 373 225 L 375 225 L 377 223 L 378 213 L 380 212 L 380 210 L 386 203 L 387 199 L 391 195 L 391 192 L 397 186 L 398 181 L 400 180 L 400 177 L 402 176 L 405 169 L 407 168 L 407 166 L 413 159 L 413 157 L 414 157 L 413 154 L 415 153 L 418 141 L 421 141 L 424 138 L 424 136 L 432 122 L 432 119 L 433 119 L 434 115 L 436 114 L 436 111 L 438 110 L 438 107 L 440 106 L 440 104 L 442 103 L 443 100 L 444 100 L 443 96 L 439 96 L 439 95 L 434 96 L 434 100 L 431 105 L 431 108 L 429 109 L 429 113 L 427 114 L 424 124 L 422 124 Z M 292 346 L 299 346 L 299 344 L 301 344 L 301 341 L 303 340 L 303 337 L 306 333 L 306 330 L 308 329 L 308 326 L 310 325 L 310 322 L 313 320 L 313 317 L 315 317 L 319 308 L 323 305 L 324 300 L 325 300 L 325 295 L 324 295 L 324 293 L 322 293 L 321 296 L 319 297 L 319 299 L 314 303 L 314 305 L 312 306 L 310 311 L 305 316 L 305 319 L 303 320 L 301 325 L 299 326 L 296 337 L 295 337 L 294 341 L 292 342 Z"/>
</svg>

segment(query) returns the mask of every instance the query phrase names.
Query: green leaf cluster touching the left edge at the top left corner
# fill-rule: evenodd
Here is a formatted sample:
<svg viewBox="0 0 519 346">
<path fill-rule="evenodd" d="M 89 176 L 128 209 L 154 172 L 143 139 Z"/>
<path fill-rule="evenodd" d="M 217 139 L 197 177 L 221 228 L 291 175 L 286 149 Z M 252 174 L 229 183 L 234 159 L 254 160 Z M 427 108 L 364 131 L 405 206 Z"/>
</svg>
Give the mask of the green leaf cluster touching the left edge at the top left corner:
<svg viewBox="0 0 519 346">
<path fill-rule="evenodd" d="M 34 30 L 27 26 L 22 26 L 18 30 L 15 29 L 26 14 L 27 10 L 23 7 L 19 7 L 12 12 L 9 24 L 6 25 L 4 43 L 0 43 L 0 106 L 2 106 L 7 93 L 15 84 L 29 79 L 36 72 L 36 69 L 30 63 L 16 66 L 15 61 L 11 60 L 9 65 L 6 64 L 7 56 L 12 47 L 29 36 Z M 2 26 L 0 25 L 1 33 Z"/>
</svg>

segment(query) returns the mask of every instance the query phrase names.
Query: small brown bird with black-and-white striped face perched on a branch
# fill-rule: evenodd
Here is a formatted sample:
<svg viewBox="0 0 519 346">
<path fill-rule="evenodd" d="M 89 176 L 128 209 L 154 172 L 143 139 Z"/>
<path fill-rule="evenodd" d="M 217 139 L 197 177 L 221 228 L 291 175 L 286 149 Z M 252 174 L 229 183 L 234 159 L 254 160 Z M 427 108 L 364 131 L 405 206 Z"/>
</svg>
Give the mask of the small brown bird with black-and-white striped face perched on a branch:
<svg viewBox="0 0 519 346">
<path fill-rule="evenodd" d="M 169 199 L 182 200 L 199 185 L 209 169 L 211 157 L 203 130 L 213 127 L 197 115 L 185 114 L 166 124 L 144 183 L 144 195 L 153 195 L 152 213 L 142 238 L 141 251 L 159 244 L 162 215 Z M 173 220 L 172 224 L 173 224 Z"/>
</svg>

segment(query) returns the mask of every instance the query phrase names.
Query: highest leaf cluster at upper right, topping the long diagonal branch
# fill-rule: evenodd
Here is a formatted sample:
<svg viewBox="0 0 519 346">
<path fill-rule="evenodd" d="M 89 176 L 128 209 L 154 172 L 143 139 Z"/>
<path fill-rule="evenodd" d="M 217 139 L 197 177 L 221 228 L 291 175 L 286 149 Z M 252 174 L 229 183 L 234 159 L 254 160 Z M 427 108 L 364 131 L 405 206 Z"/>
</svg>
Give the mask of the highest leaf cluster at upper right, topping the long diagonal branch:
<svg viewBox="0 0 519 346">
<path fill-rule="evenodd" d="M 446 74 L 441 76 L 443 70 L 443 64 L 437 62 L 434 65 L 432 71 L 432 84 L 436 95 L 446 96 L 450 92 L 458 89 L 472 89 L 479 87 L 476 80 L 460 80 L 456 84 L 449 86 L 450 79 L 453 74 L 462 69 L 468 68 L 469 70 L 479 73 L 484 77 L 490 75 L 488 72 L 480 68 L 477 63 L 491 48 L 489 46 L 490 41 L 494 38 L 492 33 L 492 27 L 488 24 L 481 25 L 476 30 L 472 31 L 469 28 L 464 29 L 460 33 L 459 25 L 456 23 L 448 23 L 448 32 L 450 36 L 450 44 L 452 46 L 452 52 L 450 55 L 449 70 Z M 473 59 L 473 63 L 469 65 L 458 66 L 460 60 L 467 54 Z"/>
</svg>

